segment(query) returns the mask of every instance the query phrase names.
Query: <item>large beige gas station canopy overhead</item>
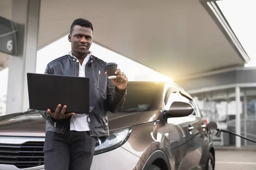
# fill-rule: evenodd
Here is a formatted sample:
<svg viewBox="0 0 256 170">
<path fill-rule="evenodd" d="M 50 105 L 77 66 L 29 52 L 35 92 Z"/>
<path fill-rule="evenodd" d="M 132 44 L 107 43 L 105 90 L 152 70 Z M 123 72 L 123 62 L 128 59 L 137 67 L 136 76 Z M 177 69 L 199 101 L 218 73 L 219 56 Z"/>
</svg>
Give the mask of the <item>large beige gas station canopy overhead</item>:
<svg viewBox="0 0 256 170">
<path fill-rule="evenodd" d="M 12 19 L 12 0 L 0 1 L 0 16 Z M 174 80 L 250 60 L 215 0 L 41 0 L 38 49 L 79 17 L 93 23 L 95 43 Z"/>
</svg>

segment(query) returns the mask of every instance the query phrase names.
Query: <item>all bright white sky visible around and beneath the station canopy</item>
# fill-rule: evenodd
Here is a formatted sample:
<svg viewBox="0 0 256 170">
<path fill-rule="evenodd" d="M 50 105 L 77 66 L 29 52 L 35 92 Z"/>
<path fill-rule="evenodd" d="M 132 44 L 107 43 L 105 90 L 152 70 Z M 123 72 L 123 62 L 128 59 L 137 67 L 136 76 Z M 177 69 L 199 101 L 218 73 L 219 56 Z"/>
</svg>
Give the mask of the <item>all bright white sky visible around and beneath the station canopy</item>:
<svg viewBox="0 0 256 170">
<path fill-rule="evenodd" d="M 217 4 L 244 47 L 244 50 L 251 58 L 250 63 L 246 64 L 245 67 L 256 66 L 256 10 L 254 9 L 256 0 L 219 0 Z M 67 36 L 39 50 L 37 53 L 36 73 L 43 74 L 46 65 L 50 61 L 67 54 L 70 50 L 70 42 L 68 42 Z M 105 62 L 116 62 L 118 68 L 127 75 L 129 81 L 172 81 L 171 77 L 166 77 L 151 68 L 145 67 L 95 43 L 91 46 L 90 51 Z M 0 71 L 0 80 L 1 98 L 7 93 L 8 68 Z"/>
</svg>

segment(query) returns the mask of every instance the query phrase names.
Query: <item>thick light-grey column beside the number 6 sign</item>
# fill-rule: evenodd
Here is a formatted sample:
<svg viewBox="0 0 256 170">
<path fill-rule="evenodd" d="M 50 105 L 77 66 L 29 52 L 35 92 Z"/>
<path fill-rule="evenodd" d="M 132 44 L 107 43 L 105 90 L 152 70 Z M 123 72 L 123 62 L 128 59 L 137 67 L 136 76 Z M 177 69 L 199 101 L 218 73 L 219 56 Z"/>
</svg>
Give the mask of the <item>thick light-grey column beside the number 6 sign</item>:
<svg viewBox="0 0 256 170">
<path fill-rule="evenodd" d="M 12 21 L 18 23 L 18 56 L 9 56 L 6 114 L 29 108 L 26 74 L 35 73 L 41 0 L 13 0 Z"/>
</svg>

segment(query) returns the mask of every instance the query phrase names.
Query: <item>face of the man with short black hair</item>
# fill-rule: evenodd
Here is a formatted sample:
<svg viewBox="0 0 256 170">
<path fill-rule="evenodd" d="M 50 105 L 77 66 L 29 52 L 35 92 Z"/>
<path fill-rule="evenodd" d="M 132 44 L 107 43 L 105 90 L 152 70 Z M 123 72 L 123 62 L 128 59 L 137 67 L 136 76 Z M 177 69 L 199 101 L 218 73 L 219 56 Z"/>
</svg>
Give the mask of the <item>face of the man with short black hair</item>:
<svg viewBox="0 0 256 170">
<path fill-rule="evenodd" d="M 82 56 L 87 54 L 90 49 L 93 41 L 93 31 L 91 28 L 74 26 L 68 40 L 71 42 L 72 53 Z"/>
</svg>

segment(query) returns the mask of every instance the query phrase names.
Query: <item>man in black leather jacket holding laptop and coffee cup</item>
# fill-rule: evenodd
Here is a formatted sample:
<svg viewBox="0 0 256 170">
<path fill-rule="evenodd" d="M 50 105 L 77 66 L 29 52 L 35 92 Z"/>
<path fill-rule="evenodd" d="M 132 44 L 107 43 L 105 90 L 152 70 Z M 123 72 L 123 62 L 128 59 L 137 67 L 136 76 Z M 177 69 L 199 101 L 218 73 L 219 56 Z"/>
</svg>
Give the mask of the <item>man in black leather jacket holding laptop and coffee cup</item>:
<svg viewBox="0 0 256 170">
<path fill-rule="evenodd" d="M 64 114 L 68 106 L 64 105 L 61 110 L 59 104 L 55 111 L 40 111 L 46 119 L 45 170 L 90 170 L 96 136 L 109 135 L 107 111 L 119 111 L 125 102 L 128 82 L 125 74 L 117 69 L 116 79 L 109 80 L 106 63 L 89 51 L 93 40 L 90 21 L 74 20 L 68 40 L 72 51 L 49 62 L 45 74 L 89 77 L 90 106 L 94 110 L 88 115 Z M 76 91 L 76 87 L 70 88 Z"/>
</svg>

